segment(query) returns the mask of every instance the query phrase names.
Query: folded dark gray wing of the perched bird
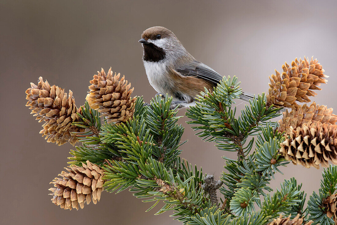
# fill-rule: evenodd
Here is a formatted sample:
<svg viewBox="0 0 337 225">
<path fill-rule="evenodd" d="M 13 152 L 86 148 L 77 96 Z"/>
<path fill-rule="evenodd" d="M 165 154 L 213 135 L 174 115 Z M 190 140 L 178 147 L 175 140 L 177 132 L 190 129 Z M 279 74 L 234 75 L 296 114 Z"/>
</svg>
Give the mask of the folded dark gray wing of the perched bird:
<svg viewBox="0 0 337 225">
<path fill-rule="evenodd" d="M 192 60 L 175 67 L 175 70 L 184 76 L 195 76 L 214 84 L 218 84 L 223 78 L 220 74 L 215 72 L 214 69 L 197 60 Z"/>
</svg>

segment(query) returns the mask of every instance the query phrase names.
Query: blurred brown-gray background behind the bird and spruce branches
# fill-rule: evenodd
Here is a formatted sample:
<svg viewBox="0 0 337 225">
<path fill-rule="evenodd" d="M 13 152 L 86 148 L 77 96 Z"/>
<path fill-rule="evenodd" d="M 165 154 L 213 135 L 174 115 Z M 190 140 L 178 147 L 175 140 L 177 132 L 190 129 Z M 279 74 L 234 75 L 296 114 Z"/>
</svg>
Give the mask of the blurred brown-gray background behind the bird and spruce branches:
<svg viewBox="0 0 337 225">
<path fill-rule="evenodd" d="M 336 6 L 335 1 L 1 0 L 0 224 L 180 224 L 169 213 L 145 213 L 150 203 L 128 191 L 104 192 L 97 205 L 71 212 L 50 201 L 49 182 L 67 166 L 74 147 L 45 142 L 38 133 L 42 124 L 25 107 L 25 90 L 39 76 L 71 89 L 80 106 L 92 75 L 112 66 L 125 74 L 135 95 L 149 101 L 156 92 L 137 40 L 143 30 L 159 25 L 171 29 L 196 59 L 222 75 L 237 75 L 250 93 L 266 91 L 268 76 L 285 61 L 313 55 L 330 76 L 314 100 L 337 108 Z M 221 156 L 235 154 L 201 141 L 185 120 L 180 120 L 186 127 L 183 140 L 189 141 L 182 157 L 219 176 Z M 282 170 L 273 188 L 295 176 L 308 195 L 318 190 L 321 170 L 292 164 Z"/>
</svg>

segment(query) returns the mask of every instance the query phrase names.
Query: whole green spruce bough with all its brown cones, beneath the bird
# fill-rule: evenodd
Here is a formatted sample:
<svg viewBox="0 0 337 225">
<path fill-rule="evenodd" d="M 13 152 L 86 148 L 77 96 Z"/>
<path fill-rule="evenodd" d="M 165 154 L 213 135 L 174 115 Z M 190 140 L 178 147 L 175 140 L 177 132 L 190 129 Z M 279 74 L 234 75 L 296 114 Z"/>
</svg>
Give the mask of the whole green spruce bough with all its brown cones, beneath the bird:
<svg viewBox="0 0 337 225">
<path fill-rule="evenodd" d="M 40 78 L 26 93 L 27 106 L 44 122 L 41 133 L 59 145 L 80 142 L 70 152 L 66 172 L 52 182 L 53 203 L 79 209 L 96 204 L 103 189 L 129 189 L 153 202 L 148 210 L 164 202 L 156 214 L 171 210 L 183 224 L 335 224 L 337 116 L 316 103 L 299 105 L 310 102 L 327 76 L 313 59 L 282 68 L 271 76 L 268 94 L 257 95 L 239 116 L 234 101 L 242 92 L 236 77 L 224 78 L 213 92 L 205 89 L 188 109 L 188 123 L 198 136 L 237 152 L 236 159 L 223 157 L 221 180 L 179 156 L 184 128 L 171 109 L 172 97 L 156 96 L 144 105 L 142 97 L 131 97 L 124 77 L 102 70 L 90 81 L 84 106 L 77 108 L 71 92 L 67 96 Z M 283 107 L 291 111 L 271 122 Z M 271 193 L 269 182 L 289 161 L 327 167 L 318 193 L 307 197 L 295 178 Z"/>
</svg>

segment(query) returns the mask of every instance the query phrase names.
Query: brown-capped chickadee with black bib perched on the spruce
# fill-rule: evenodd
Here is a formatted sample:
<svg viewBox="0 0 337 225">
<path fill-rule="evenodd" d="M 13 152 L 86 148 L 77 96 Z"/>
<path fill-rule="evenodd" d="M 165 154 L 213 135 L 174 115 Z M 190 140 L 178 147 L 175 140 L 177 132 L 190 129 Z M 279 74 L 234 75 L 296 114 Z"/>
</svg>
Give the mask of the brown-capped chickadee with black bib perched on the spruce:
<svg viewBox="0 0 337 225">
<path fill-rule="evenodd" d="M 197 61 L 180 43 L 176 35 L 165 27 L 150 27 L 139 40 L 143 44 L 143 63 L 151 86 L 158 93 L 173 96 L 172 107 L 189 107 L 205 87 L 213 88 L 222 76 L 211 67 Z M 253 96 L 242 94 L 249 101 Z"/>
</svg>

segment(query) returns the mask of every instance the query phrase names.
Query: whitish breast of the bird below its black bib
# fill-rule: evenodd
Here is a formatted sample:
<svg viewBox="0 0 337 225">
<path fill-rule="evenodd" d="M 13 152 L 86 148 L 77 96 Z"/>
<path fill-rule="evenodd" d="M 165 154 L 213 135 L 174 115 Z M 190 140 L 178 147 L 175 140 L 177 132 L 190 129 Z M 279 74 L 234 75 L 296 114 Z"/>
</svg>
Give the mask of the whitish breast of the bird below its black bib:
<svg viewBox="0 0 337 225">
<path fill-rule="evenodd" d="M 168 81 L 169 77 L 167 75 L 166 63 L 165 62 L 148 62 L 143 61 L 144 67 L 146 71 L 146 75 L 149 79 L 151 86 L 158 93 L 170 93 L 170 81 Z"/>
</svg>

